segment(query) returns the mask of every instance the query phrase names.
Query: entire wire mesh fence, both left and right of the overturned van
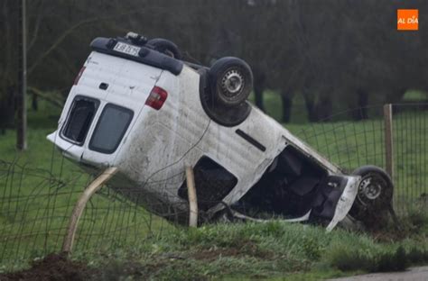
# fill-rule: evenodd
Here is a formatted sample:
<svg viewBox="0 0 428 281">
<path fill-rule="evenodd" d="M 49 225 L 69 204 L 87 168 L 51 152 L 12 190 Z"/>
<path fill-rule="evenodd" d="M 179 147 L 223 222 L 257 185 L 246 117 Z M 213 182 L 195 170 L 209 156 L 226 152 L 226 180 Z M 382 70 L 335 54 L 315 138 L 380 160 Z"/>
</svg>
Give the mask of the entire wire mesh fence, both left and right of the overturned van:
<svg viewBox="0 0 428 281">
<path fill-rule="evenodd" d="M 398 212 L 414 207 L 427 210 L 427 109 L 428 104 L 393 106 L 394 199 Z M 295 133 L 346 173 L 363 165 L 386 168 L 383 106 L 338 113 Z M 60 251 L 72 209 L 94 179 L 60 152 L 52 152 L 50 169 L 34 167 L 37 163 L 25 165 L 20 159 L 0 162 L 0 269 L 14 268 L 17 260 Z M 183 182 L 184 172 L 177 180 Z M 161 216 L 148 213 L 144 204 L 144 195 L 137 190 L 101 188 L 79 221 L 74 252 L 133 245 L 173 228 Z M 174 206 L 169 208 L 176 214 Z M 167 209 L 160 206 L 159 214 L 168 216 Z"/>
</svg>

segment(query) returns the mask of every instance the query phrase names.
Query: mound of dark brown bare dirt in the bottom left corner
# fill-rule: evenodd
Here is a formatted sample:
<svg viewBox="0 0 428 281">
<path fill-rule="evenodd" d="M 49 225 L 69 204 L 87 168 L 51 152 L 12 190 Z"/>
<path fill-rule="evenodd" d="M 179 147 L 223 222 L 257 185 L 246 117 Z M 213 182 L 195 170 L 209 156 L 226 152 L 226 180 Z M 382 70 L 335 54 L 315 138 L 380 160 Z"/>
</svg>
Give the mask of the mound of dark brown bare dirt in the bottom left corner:
<svg viewBox="0 0 428 281">
<path fill-rule="evenodd" d="M 68 259 L 66 254 L 51 254 L 46 258 L 35 261 L 33 267 L 29 269 L 0 274 L 0 280 L 83 281 L 88 280 L 93 273 L 91 271 L 85 264 Z"/>
</svg>

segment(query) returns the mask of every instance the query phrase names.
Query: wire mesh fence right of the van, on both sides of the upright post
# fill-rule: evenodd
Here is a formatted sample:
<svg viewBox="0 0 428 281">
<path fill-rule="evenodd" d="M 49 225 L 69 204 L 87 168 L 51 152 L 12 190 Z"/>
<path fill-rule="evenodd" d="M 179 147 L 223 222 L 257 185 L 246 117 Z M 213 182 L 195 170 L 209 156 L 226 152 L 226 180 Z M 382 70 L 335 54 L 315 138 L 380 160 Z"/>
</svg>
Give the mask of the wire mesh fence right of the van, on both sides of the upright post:
<svg viewBox="0 0 428 281">
<path fill-rule="evenodd" d="M 427 109 L 428 104 L 392 106 L 394 203 L 401 213 L 414 208 L 427 211 Z M 364 165 L 386 168 L 388 140 L 381 105 L 335 114 L 326 122 L 308 124 L 296 134 L 346 173 Z"/>
</svg>

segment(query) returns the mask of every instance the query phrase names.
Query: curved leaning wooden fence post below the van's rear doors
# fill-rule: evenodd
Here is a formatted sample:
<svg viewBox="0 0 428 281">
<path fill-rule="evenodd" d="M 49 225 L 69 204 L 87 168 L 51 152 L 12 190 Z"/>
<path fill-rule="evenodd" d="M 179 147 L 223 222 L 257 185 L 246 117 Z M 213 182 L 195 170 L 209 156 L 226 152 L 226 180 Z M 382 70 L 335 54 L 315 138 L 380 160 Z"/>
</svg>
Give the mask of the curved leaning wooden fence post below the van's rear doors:
<svg viewBox="0 0 428 281">
<path fill-rule="evenodd" d="M 85 210 L 85 206 L 88 203 L 88 200 L 92 195 L 94 195 L 104 183 L 107 182 L 110 177 L 113 177 L 117 172 L 116 167 L 107 168 L 99 177 L 97 177 L 90 185 L 85 189 L 82 195 L 80 195 L 78 203 L 74 206 L 73 213 L 71 213 L 69 227 L 67 229 L 67 234 L 64 237 L 62 243 L 62 251 L 70 252 L 73 248 L 74 236 L 76 230 L 78 229 L 78 223 L 80 216 Z"/>
</svg>

